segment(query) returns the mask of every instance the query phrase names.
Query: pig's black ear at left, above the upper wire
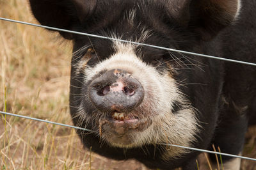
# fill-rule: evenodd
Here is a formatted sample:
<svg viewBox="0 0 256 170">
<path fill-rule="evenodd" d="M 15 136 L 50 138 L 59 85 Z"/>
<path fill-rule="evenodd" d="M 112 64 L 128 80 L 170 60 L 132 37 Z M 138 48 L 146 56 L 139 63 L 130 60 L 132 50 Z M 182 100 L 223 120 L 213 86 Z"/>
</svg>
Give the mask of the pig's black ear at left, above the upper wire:
<svg viewBox="0 0 256 170">
<path fill-rule="evenodd" d="M 70 29 L 81 25 L 88 18 L 97 0 L 29 0 L 35 18 L 44 26 Z M 71 33 L 61 32 L 67 39 Z"/>
</svg>

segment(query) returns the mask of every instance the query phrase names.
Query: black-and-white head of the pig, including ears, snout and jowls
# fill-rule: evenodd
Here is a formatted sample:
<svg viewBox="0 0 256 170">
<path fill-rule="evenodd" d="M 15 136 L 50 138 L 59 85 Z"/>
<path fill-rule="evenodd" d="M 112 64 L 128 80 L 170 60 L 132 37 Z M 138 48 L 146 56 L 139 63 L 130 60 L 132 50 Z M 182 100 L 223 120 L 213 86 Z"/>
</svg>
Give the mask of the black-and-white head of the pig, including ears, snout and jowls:
<svg viewBox="0 0 256 170">
<path fill-rule="evenodd" d="M 234 22 L 240 6 L 238 0 L 30 3 L 36 19 L 46 26 L 203 53 L 212 50 L 207 44 Z M 150 160 L 179 159 L 187 152 L 160 143 L 204 148 L 211 141 L 221 62 L 60 34 L 74 42 L 72 119 L 76 126 L 95 131 L 78 131 L 85 146 L 113 158 L 147 157 L 149 165 Z M 220 79 L 211 79 L 213 75 Z"/>
</svg>

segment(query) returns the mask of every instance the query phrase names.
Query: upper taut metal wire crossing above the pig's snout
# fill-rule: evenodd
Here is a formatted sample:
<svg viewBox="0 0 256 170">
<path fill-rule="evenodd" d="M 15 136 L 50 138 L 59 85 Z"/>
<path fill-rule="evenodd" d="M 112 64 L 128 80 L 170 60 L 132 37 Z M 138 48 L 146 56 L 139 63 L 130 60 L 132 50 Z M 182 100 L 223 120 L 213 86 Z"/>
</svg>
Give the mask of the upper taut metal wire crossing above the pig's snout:
<svg viewBox="0 0 256 170">
<path fill-rule="evenodd" d="M 246 61 L 239 61 L 239 60 L 236 60 L 236 59 L 219 58 L 219 57 L 216 57 L 216 56 L 209 56 L 209 55 L 206 55 L 206 54 L 198 54 L 196 52 L 188 52 L 188 51 L 185 51 L 185 50 L 170 49 L 170 48 L 160 47 L 160 46 L 157 46 L 157 45 L 150 45 L 150 44 L 146 44 L 146 43 L 131 42 L 131 41 L 121 40 L 121 39 L 118 39 L 118 38 L 111 38 L 111 37 L 107 37 L 107 36 L 92 35 L 92 34 L 88 34 L 88 33 L 70 31 L 70 30 L 67 30 L 67 29 L 60 29 L 60 28 L 57 28 L 57 27 L 42 26 L 42 25 L 32 24 L 32 23 L 29 23 L 29 22 L 23 22 L 23 21 L 19 21 L 19 20 L 6 19 L 6 18 L 2 18 L 2 17 L 0 17 L 0 20 L 6 20 L 6 21 L 15 22 L 15 23 L 19 23 L 19 24 L 25 24 L 25 25 L 29 25 L 29 26 L 44 27 L 46 29 L 52 29 L 52 30 L 55 30 L 55 31 L 63 31 L 63 32 L 67 32 L 67 33 L 77 34 L 77 35 L 85 35 L 85 36 L 92 36 L 92 37 L 95 37 L 95 38 L 115 40 L 115 41 L 119 41 L 119 42 L 133 43 L 133 44 L 136 44 L 136 45 L 143 45 L 143 46 L 147 46 L 147 47 L 153 47 L 153 48 L 156 48 L 156 49 L 169 50 L 169 51 L 173 51 L 173 52 L 180 52 L 180 53 L 183 53 L 183 54 L 201 56 L 201 57 L 204 57 L 204 58 L 219 59 L 219 60 L 229 61 L 229 62 L 233 62 L 233 63 L 240 63 L 240 64 L 244 64 L 244 65 L 256 66 L 256 63 L 250 63 L 250 62 L 246 62 Z"/>
</svg>

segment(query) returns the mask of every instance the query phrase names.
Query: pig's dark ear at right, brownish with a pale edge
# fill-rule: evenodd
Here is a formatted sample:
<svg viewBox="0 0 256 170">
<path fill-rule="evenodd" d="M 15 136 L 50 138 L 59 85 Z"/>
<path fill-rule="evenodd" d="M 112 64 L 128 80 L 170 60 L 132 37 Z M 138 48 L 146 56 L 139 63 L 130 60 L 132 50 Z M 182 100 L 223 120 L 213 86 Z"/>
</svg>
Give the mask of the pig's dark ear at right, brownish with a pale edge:
<svg viewBox="0 0 256 170">
<path fill-rule="evenodd" d="M 166 1 L 168 13 L 182 26 L 188 26 L 203 40 L 213 38 L 239 15 L 241 0 Z"/>
</svg>

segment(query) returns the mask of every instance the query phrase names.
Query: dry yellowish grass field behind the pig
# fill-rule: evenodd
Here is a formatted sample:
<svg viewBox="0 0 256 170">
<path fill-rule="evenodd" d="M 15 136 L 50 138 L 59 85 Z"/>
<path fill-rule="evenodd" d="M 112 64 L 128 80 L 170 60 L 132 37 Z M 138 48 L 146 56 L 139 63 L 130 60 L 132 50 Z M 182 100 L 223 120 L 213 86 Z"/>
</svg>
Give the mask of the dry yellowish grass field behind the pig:
<svg viewBox="0 0 256 170">
<path fill-rule="evenodd" d="M 0 0 L 0 17 L 37 23 L 26 0 Z M 68 86 L 72 42 L 39 27 L 0 20 L 0 111 L 72 125 Z M 100 157 L 72 128 L 0 118 L 0 169 L 147 169 L 134 160 Z M 256 158 L 256 128 L 244 155 Z M 244 161 L 242 169 L 256 169 Z"/>
</svg>

